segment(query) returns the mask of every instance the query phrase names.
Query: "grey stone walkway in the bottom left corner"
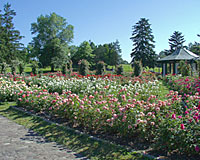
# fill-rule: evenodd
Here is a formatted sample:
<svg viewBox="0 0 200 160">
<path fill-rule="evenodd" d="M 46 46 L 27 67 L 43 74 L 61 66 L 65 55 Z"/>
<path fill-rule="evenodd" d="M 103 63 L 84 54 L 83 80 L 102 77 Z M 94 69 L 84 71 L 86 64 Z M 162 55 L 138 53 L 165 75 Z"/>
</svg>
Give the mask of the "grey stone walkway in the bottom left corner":
<svg viewBox="0 0 200 160">
<path fill-rule="evenodd" d="M 0 160 L 86 160 L 0 115 Z"/>
</svg>

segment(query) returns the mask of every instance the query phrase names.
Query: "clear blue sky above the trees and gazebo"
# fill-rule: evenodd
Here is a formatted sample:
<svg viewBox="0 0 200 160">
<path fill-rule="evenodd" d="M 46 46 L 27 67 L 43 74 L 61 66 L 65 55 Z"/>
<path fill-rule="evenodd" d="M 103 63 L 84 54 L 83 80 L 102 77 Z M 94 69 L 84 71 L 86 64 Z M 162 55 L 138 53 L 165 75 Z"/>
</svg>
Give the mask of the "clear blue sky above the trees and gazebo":
<svg viewBox="0 0 200 160">
<path fill-rule="evenodd" d="M 188 45 L 199 42 L 200 0 L 0 0 L 0 9 L 10 3 L 15 10 L 14 25 L 24 36 L 25 46 L 31 42 L 31 23 L 40 15 L 56 14 L 74 26 L 73 45 L 93 41 L 96 45 L 119 41 L 122 58 L 131 61 L 132 27 L 141 19 L 149 19 L 159 54 L 169 49 L 168 39 L 174 31 L 182 32 Z"/>
</svg>

